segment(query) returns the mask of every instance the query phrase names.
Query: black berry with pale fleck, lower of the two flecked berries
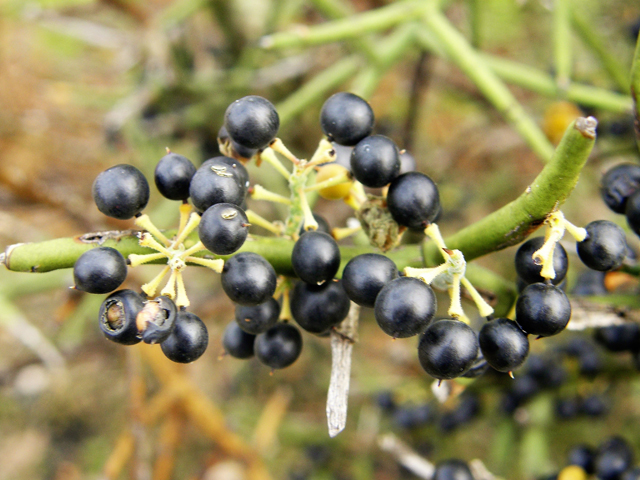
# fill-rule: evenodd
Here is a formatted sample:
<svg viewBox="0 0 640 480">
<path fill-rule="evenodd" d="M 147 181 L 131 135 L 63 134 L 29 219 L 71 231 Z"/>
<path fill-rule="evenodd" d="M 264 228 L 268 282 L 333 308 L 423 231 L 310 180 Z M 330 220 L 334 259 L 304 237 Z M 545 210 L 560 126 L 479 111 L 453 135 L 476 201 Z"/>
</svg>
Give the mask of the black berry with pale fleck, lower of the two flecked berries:
<svg viewBox="0 0 640 480">
<path fill-rule="evenodd" d="M 231 255 L 249 234 L 249 220 L 244 210 L 231 203 L 217 203 L 207 208 L 198 225 L 198 236 L 207 250 L 216 255 Z"/>
</svg>

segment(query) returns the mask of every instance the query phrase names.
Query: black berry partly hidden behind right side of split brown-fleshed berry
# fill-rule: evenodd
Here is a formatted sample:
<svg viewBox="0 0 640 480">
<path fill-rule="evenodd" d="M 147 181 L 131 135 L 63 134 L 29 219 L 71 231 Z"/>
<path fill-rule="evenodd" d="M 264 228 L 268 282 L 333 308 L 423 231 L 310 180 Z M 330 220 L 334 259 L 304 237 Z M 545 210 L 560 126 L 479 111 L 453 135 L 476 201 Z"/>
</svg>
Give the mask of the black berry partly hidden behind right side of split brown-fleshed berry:
<svg viewBox="0 0 640 480">
<path fill-rule="evenodd" d="M 173 332 L 160 347 L 169 360 L 191 363 L 202 356 L 208 344 L 209 332 L 202 320 L 191 312 L 181 311 Z"/>
</svg>

